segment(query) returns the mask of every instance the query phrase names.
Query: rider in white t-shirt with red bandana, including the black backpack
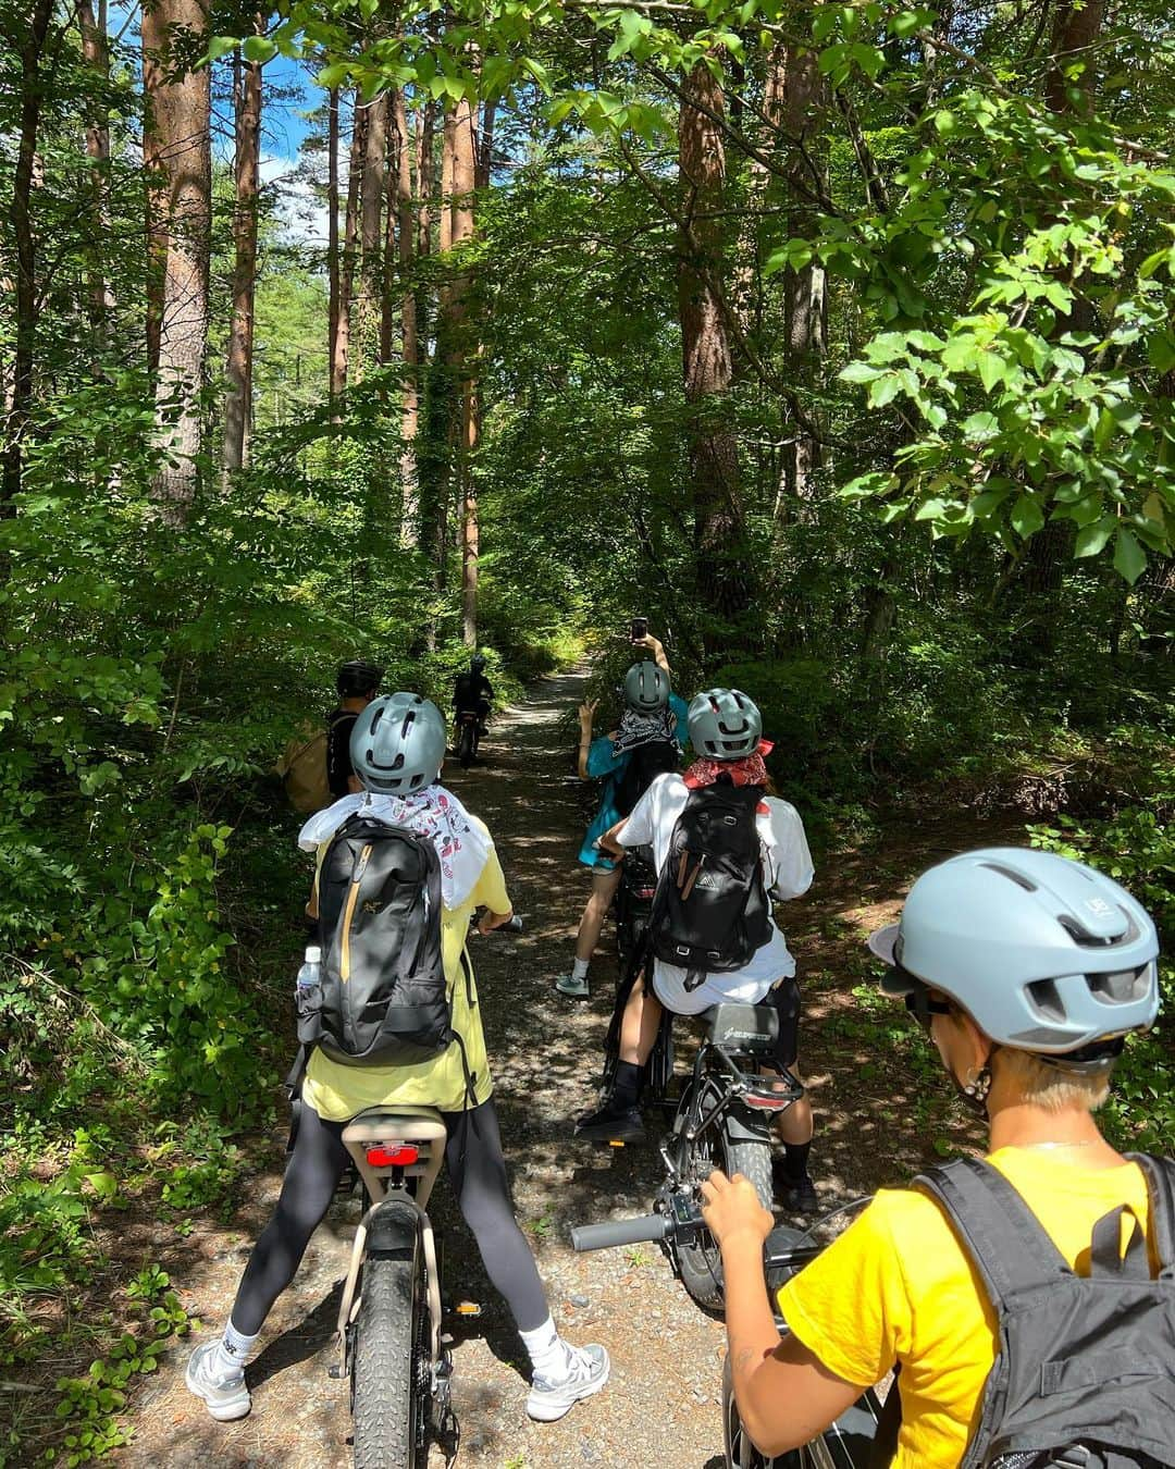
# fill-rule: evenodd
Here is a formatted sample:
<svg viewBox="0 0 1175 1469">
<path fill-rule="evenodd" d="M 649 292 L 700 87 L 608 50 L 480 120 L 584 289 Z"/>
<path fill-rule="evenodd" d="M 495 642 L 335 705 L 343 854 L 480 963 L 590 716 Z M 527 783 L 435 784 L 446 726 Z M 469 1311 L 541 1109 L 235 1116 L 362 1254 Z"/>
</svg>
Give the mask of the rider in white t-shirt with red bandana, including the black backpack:
<svg viewBox="0 0 1175 1469">
<path fill-rule="evenodd" d="M 632 814 L 601 840 L 607 851 L 621 853 L 651 845 L 658 889 L 651 918 L 652 986 L 645 975 L 636 977 L 621 1019 L 612 1094 L 576 1127 L 577 1137 L 593 1141 L 643 1136 L 637 1103 L 662 1006 L 701 1015 L 723 1000 L 770 1002 L 780 1018 L 777 1064 L 795 1074 L 796 964 L 771 917 L 768 895 L 799 898 L 812 883 L 803 823 L 795 806 L 765 792 L 764 757 L 771 746 L 762 739 L 762 717 L 752 699 L 737 689 L 709 689 L 689 705 L 687 724 L 695 762 L 684 776 L 654 780 Z M 730 836 L 742 839 L 740 852 L 720 851 Z M 711 933 L 714 923 L 723 931 Z M 817 1197 L 808 1175 L 812 1109 L 806 1097 L 783 1114 L 780 1136 L 784 1202 L 808 1212 Z"/>
</svg>

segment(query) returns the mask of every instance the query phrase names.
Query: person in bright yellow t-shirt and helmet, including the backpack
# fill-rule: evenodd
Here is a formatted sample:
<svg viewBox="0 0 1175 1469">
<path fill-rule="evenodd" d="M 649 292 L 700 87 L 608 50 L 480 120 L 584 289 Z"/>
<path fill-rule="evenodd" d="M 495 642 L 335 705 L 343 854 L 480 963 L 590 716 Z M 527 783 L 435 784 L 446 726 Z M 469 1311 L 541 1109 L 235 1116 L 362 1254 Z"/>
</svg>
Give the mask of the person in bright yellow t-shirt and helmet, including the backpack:
<svg viewBox="0 0 1175 1469">
<path fill-rule="evenodd" d="M 1081 862 L 994 848 L 924 873 L 900 923 L 870 948 L 892 965 L 883 990 L 905 997 L 964 1100 L 987 1116 L 991 1150 L 919 1187 L 881 1190 L 780 1290 L 783 1338 L 764 1281 L 774 1221 L 746 1180 L 711 1175 L 704 1218 L 723 1253 L 745 1431 L 767 1457 L 787 1454 L 900 1365 L 894 1469 L 1175 1463 L 1175 1262 L 1152 1281 L 1143 1247 L 1149 1222 L 1153 1247 L 1169 1234 L 1169 1184 L 1152 1196 L 1143 1166 L 1093 1118 L 1124 1036 L 1157 1014 L 1154 924 Z M 1124 1260 L 1131 1215 L 1141 1231 Z M 1122 1318 L 1115 1300 L 1127 1291 Z M 1152 1341 L 1143 1324 L 1154 1329 L 1156 1318 Z M 1131 1362 L 1112 1346 L 1124 1321 Z M 1097 1453 L 1071 1456 L 1090 1415 Z M 1160 1456 L 1112 1453 L 1124 1429 L 1150 1454 L 1157 1441 Z M 1033 1448 L 1046 1451 L 1002 1457 Z"/>
</svg>

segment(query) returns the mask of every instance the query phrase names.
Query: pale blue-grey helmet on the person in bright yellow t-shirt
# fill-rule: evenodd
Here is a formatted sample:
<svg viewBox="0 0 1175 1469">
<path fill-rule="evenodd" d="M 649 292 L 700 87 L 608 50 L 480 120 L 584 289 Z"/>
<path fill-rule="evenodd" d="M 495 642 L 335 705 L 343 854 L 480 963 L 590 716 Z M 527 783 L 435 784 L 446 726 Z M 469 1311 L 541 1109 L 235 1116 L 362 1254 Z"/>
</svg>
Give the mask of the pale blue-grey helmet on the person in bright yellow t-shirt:
<svg viewBox="0 0 1175 1469">
<path fill-rule="evenodd" d="M 940 990 L 1000 1046 L 1104 1065 L 1159 1014 L 1159 937 L 1113 878 L 1052 852 L 952 856 L 911 887 L 900 923 L 870 939 L 890 995 Z M 1068 1062 L 1066 1058 L 1068 1056 Z"/>
</svg>

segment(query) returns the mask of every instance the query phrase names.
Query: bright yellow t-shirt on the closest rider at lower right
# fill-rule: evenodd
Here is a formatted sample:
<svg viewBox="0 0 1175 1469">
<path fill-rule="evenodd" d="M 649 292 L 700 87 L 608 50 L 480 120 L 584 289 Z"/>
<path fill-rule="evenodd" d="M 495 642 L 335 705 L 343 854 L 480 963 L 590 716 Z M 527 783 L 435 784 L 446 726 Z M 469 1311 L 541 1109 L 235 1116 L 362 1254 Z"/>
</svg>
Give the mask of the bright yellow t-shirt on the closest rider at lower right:
<svg viewBox="0 0 1175 1469">
<path fill-rule="evenodd" d="M 1088 1169 L 1043 1149 L 987 1159 L 1009 1180 L 1078 1274 L 1090 1235 L 1127 1203 L 1147 1222 L 1137 1163 Z M 1080 1257 L 1084 1255 L 1084 1260 Z M 870 1387 L 902 1363 L 902 1435 L 893 1469 L 956 1469 L 996 1359 L 996 1318 L 946 1216 L 925 1194 L 881 1190 L 840 1238 L 781 1287 L 792 1332 L 837 1376 Z"/>
</svg>

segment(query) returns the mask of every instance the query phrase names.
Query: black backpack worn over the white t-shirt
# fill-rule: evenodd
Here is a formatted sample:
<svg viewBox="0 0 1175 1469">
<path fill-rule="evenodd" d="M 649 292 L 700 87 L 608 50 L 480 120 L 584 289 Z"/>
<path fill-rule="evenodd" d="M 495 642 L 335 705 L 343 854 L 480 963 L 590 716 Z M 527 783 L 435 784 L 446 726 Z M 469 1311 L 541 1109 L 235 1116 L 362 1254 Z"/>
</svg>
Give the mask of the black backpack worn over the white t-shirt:
<svg viewBox="0 0 1175 1469">
<path fill-rule="evenodd" d="M 723 782 L 692 790 L 670 836 L 652 906 L 652 952 L 690 971 L 687 990 L 706 974 L 740 970 L 771 937 L 755 826 L 761 799 L 761 786 Z"/>
</svg>

